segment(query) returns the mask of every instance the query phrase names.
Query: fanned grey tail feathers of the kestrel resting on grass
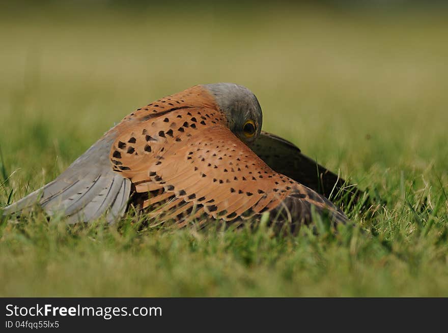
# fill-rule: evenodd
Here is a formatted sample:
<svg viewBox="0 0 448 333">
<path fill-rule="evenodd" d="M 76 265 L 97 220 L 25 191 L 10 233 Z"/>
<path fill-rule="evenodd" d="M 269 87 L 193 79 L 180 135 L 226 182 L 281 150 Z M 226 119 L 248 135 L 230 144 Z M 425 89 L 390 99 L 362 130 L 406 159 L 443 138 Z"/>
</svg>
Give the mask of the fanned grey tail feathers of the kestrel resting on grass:
<svg viewBox="0 0 448 333">
<path fill-rule="evenodd" d="M 64 214 L 68 223 L 88 222 L 106 214 L 109 222 L 126 209 L 131 182 L 114 172 L 109 151 L 115 131 L 106 133 L 59 177 L 6 207 L 3 215 L 39 204 L 47 214 Z"/>
</svg>

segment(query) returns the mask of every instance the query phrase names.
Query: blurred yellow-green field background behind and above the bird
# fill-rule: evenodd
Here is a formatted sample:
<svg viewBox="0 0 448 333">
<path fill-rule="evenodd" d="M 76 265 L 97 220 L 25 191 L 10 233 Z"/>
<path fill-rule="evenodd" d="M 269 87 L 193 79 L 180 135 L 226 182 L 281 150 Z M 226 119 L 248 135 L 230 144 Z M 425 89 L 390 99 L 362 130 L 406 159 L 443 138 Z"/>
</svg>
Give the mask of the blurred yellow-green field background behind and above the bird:
<svg viewBox="0 0 448 333">
<path fill-rule="evenodd" d="M 259 98 L 265 130 L 362 185 L 366 173 L 398 165 L 442 171 L 446 13 L 288 3 L 2 10 L 5 164 L 35 177 L 58 156 L 62 171 L 134 108 L 236 82 Z"/>
</svg>

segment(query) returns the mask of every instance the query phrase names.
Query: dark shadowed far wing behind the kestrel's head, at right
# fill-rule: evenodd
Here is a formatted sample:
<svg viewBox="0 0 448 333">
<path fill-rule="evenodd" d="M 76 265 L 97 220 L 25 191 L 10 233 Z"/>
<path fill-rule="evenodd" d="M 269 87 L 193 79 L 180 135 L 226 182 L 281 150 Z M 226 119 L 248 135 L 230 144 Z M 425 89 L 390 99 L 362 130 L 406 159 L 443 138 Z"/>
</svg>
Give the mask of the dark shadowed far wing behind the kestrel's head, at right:
<svg viewBox="0 0 448 333">
<path fill-rule="evenodd" d="M 277 172 L 296 180 L 326 197 L 331 192 L 356 199 L 361 191 L 329 171 L 315 160 L 303 155 L 293 143 L 262 131 L 253 147 L 254 152 Z"/>
</svg>

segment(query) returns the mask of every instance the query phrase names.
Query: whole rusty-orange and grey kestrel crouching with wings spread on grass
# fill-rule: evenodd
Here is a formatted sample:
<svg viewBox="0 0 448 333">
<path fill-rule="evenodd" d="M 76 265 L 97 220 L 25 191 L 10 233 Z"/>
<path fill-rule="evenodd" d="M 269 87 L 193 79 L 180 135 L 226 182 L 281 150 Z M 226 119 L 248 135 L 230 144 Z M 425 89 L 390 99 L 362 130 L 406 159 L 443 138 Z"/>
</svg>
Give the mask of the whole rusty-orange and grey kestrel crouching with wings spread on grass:
<svg viewBox="0 0 448 333">
<path fill-rule="evenodd" d="M 114 223 L 133 205 L 148 220 L 179 227 L 198 220 L 245 223 L 263 214 L 291 230 L 315 214 L 347 223 L 318 193 L 344 180 L 289 141 L 261 131 L 262 118 L 245 86 L 195 85 L 125 116 L 61 175 L 3 215 L 39 205 L 49 216 L 63 214 L 67 224 L 101 216 Z"/>
</svg>

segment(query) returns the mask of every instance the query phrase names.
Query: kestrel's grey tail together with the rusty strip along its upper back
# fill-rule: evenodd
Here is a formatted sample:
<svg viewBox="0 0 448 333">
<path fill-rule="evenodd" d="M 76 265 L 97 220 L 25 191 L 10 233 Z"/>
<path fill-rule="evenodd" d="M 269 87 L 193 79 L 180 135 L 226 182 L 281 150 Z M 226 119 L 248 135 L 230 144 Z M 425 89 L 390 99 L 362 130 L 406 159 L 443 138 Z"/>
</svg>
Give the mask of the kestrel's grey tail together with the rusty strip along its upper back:
<svg viewBox="0 0 448 333">
<path fill-rule="evenodd" d="M 204 88 L 194 86 L 136 109 L 59 177 L 4 208 L 2 214 L 20 213 L 39 204 L 49 215 L 65 214 L 68 223 L 89 222 L 103 214 L 109 222 L 115 221 L 124 214 L 131 191 L 131 181 L 115 172 L 109 159 L 110 147 L 116 141 L 117 133 L 126 133 L 135 123 L 148 122 L 174 109 L 191 107 L 198 101 L 202 105 L 216 107 L 211 96 L 204 98 Z"/>
</svg>

